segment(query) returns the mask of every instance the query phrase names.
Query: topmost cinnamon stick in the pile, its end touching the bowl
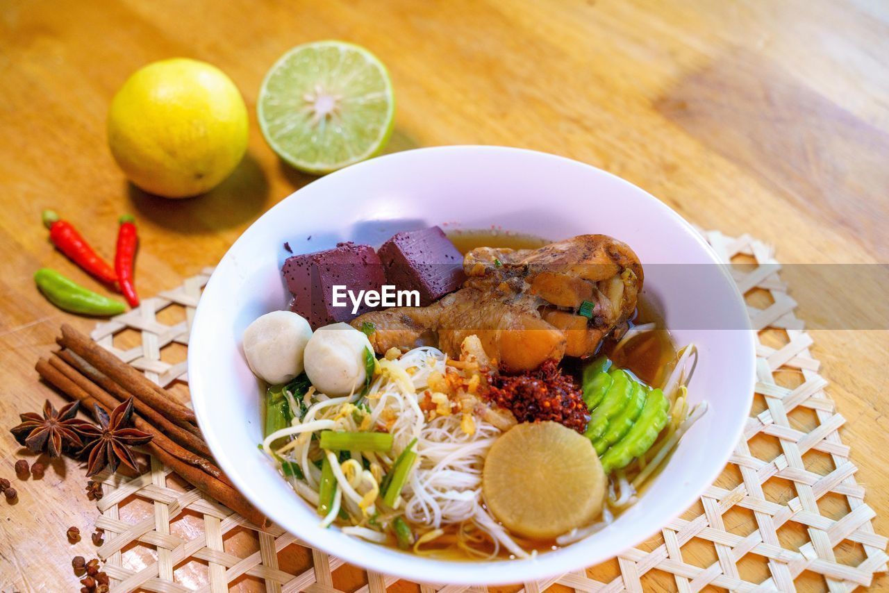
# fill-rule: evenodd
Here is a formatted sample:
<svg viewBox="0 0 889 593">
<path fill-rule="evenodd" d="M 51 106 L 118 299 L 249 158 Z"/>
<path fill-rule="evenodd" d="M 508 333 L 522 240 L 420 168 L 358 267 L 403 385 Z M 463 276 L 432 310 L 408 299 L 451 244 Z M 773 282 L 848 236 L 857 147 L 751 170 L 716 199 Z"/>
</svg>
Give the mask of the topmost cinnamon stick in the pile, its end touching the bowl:
<svg viewBox="0 0 889 593">
<path fill-rule="evenodd" d="M 77 355 L 84 358 L 86 362 L 98 369 L 100 373 L 105 373 L 108 377 L 117 381 L 133 396 L 153 407 L 158 413 L 164 414 L 170 421 L 183 428 L 188 428 L 189 423 L 192 425 L 196 423 L 193 411 L 176 402 L 171 394 L 162 396 L 159 388 L 151 381 L 148 381 L 145 375 L 102 348 L 99 344 L 92 341 L 89 336 L 78 332 L 68 324 L 61 326 L 61 335 L 60 344 L 62 346 L 73 350 Z"/>
</svg>

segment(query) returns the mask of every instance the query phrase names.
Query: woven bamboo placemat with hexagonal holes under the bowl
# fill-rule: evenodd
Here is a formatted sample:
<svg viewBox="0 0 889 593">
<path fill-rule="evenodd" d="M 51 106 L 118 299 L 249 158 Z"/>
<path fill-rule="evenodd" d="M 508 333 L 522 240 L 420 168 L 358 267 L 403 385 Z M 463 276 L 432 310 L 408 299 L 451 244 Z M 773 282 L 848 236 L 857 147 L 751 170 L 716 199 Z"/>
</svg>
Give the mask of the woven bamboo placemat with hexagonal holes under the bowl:
<svg viewBox="0 0 889 593">
<path fill-rule="evenodd" d="M 525 583 L 522 590 L 642 591 L 654 573 L 669 573 L 683 592 L 786 591 L 804 581 L 839 592 L 869 586 L 874 573 L 885 572 L 886 538 L 874 533 L 870 520 L 876 513 L 864 501 L 849 446 L 838 433 L 845 419 L 825 392 L 827 381 L 809 351 L 812 338 L 794 314 L 797 303 L 781 282 L 772 249 L 747 235 L 704 235 L 726 263 L 749 264 L 734 270 L 757 331 L 757 395 L 744 438 L 701 500 L 652 541 L 604 565 Z M 100 323 L 92 338 L 152 381 L 187 382 L 184 357 L 171 361 L 162 353 L 188 345 L 211 272 L 206 268 L 179 288 L 142 301 L 139 309 Z M 172 309 L 184 309 L 184 315 L 166 320 Z M 133 332 L 138 339 L 132 348 L 116 345 L 118 336 Z M 97 501 L 96 526 L 106 533 L 99 555 L 107 559 L 112 591 L 186 591 L 184 583 L 196 574 L 206 583 L 201 590 L 209 591 L 249 589 L 253 582 L 273 592 L 363 593 L 396 584 L 395 577 L 365 573 L 310 549 L 274 525 L 260 531 L 183 485 L 153 458 L 140 477 L 99 478 L 105 495 Z M 127 512 L 131 505 L 150 510 Z M 418 587 L 424 593 L 486 590 L 431 584 L 405 589 Z"/>
</svg>

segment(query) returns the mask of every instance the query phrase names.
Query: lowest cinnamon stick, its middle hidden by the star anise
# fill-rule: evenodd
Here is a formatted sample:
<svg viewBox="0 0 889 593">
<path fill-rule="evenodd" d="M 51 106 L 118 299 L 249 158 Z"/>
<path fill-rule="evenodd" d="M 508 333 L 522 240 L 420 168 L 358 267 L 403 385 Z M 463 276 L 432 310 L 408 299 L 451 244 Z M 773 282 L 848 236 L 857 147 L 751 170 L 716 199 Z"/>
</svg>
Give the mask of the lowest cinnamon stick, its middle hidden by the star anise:
<svg viewBox="0 0 889 593">
<path fill-rule="evenodd" d="M 74 397 L 83 402 L 90 413 L 92 413 L 94 405 L 101 405 L 101 402 L 96 397 L 93 397 L 74 381 L 70 380 L 64 373 L 61 373 L 61 371 L 51 365 L 46 358 L 41 358 L 37 361 L 36 370 L 45 381 L 49 381 L 69 397 Z M 160 446 L 154 440 L 148 443 L 148 448 L 151 451 L 151 454 L 164 462 L 167 467 L 173 469 L 189 484 L 208 493 L 212 498 L 220 501 L 229 509 L 236 511 L 248 521 L 251 521 L 254 525 L 257 525 L 260 528 L 265 526 L 266 518 L 263 517 L 258 510 L 254 509 L 252 505 L 244 499 L 244 496 L 237 492 L 234 487 L 211 476 L 203 469 L 188 465 L 188 463 L 166 451 L 164 447 Z"/>
</svg>

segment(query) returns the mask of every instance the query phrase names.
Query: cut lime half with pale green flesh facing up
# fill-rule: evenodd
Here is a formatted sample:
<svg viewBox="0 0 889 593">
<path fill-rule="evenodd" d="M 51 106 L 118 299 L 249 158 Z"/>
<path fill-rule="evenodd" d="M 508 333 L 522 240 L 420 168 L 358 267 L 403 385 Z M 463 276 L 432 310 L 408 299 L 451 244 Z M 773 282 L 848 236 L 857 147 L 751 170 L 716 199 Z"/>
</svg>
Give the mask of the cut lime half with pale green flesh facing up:
<svg viewBox="0 0 889 593">
<path fill-rule="evenodd" d="M 257 105 L 268 144 L 300 171 L 327 173 L 375 156 L 395 119 L 386 67 L 341 41 L 297 45 L 262 81 Z"/>
</svg>

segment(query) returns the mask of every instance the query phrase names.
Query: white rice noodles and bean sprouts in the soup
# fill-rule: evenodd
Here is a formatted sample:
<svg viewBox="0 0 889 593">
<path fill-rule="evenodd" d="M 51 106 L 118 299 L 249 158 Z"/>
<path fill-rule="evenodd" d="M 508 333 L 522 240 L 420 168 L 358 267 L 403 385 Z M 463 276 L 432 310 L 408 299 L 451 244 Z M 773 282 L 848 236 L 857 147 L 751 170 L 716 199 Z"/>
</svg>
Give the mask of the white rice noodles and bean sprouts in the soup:
<svg viewBox="0 0 889 593">
<path fill-rule="evenodd" d="M 650 331 L 657 331 L 653 324 L 637 325 L 623 336 L 616 348 Z M 558 536 L 558 545 L 589 537 L 609 525 L 615 511 L 633 504 L 638 491 L 669 458 L 679 438 L 701 417 L 706 405 L 698 405 L 688 413 L 685 389 L 697 361 L 696 352 L 693 344 L 682 349 L 664 384 L 670 410 L 661 437 L 642 458 L 616 473 L 609 485 L 600 520 Z M 391 521 L 404 516 L 420 533 L 414 544 L 414 551 L 420 554 L 435 554 L 437 549 L 424 550 L 420 546 L 446 535 L 445 539 L 450 541 L 453 538 L 458 547 L 474 556 L 497 556 L 502 549 L 512 557 L 533 557 L 536 552 L 529 554 L 523 549 L 483 501 L 485 457 L 500 437 L 501 429 L 474 414 L 471 416 L 472 428 L 464 430 L 463 413 L 437 416 L 430 413 L 430 420 L 427 420 L 420 409 L 425 394 L 435 395 L 428 385 L 433 373 L 440 379 L 448 373 L 448 368 L 454 373 L 455 369 L 468 368 L 467 363 L 448 360 L 440 350 L 422 347 L 396 359 L 382 358 L 377 365 L 379 373 L 373 377 L 366 395 L 353 393 L 347 397 L 327 397 L 309 389 L 301 401 L 306 408 L 302 418 L 294 418 L 292 426 L 277 430 L 262 443 L 263 450 L 273 459 L 299 465 L 303 478 L 288 479 L 294 490 L 313 505 L 319 501 L 321 470 L 318 466 L 323 460 L 330 464 L 336 485 L 331 509 L 324 515 L 321 525 L 341 525 L 342 533 L 383 543 L 391 540 L 386 531 L 390 529 Z M 288 401 L 293 400 L 291 405 L 295 403 L 292 394 L 285 396 Z M 348 460 L 340 463 L 340 455 L 321 450 L 314 439 L 322 430 L 356 432 L 370 429 L 384 430 L 392 435 L 391 451 L 349 452 L 346 453 Z M 272 445 L 279 440 L 286 442 L 273 449 Z M 380 509 L 381 479 L 392 472 L 398 456 L 414 440 L 413 451 L 417 458 L 401 493 L 392 507 L 382 504 Z M 634 473 L 635 477 L 628 477 Z M 348 512 L 348 521 L 340 519 L 341 510 Z M 449 526 L 456 527 L 455 535 L 445 531 Z M 477 549 L 485 544 L 490 544 L 485 551 Z"/>
</svg>

